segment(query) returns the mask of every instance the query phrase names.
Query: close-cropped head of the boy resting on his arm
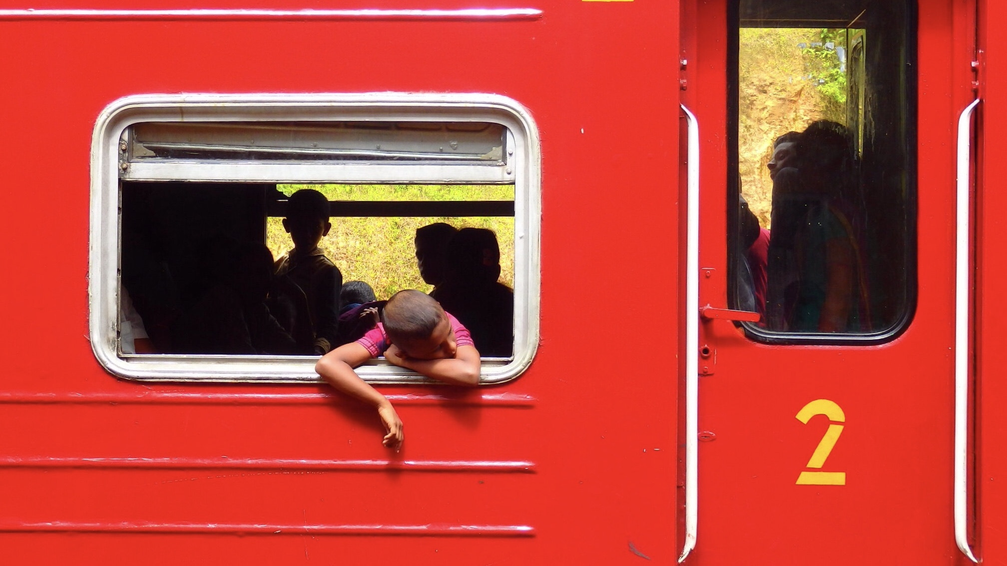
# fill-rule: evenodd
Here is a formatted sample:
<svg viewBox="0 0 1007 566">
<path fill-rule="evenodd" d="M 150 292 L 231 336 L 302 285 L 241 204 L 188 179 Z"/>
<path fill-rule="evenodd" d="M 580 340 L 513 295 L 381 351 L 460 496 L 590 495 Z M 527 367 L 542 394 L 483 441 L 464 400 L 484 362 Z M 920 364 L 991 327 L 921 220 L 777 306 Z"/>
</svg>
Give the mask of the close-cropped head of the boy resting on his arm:
<svg viewBox="0 0 1007 566">
<path fill-rule="evenodd" d="M 407 358 L 454 358 L 454 331 L 444 309 L 433 297 L 415 289 L 392 295 L 382 312 L 388 341 Z"/>
</svg>

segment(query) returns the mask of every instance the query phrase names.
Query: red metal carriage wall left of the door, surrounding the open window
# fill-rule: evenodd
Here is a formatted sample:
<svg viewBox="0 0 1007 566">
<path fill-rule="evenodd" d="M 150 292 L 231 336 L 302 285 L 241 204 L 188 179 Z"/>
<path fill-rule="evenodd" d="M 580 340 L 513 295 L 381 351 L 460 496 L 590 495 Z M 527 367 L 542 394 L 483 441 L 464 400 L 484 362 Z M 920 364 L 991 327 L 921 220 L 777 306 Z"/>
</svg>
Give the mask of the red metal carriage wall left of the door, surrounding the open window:
<svg viewBox="0 0 1007 566">
<path fill-rule="evenodd" d="M 14 78 L 3 104 L 16 109 L 9 209 L 21 211 L 3 232 L 30 235 L 3 283 L 18 328 L 0 394 L 7 560 L 596 563 L 638 559 L 630 547 L 674 559 L 673 367 L 595 352 L 613 316 L 648 347 L 676 340 L 675 292 L 616 313 L 604 300 L 613 283 L 651 297 L 677 280 L 674 260 L 656 259 L 676 246 L 677 77 L 662 62 L 676 58 L 675 7 L 535 8 L 0 16 Z M 523 376 L 464 393 L 382 388 L 408 431 L 391 454 L 371 412 L 321 385 L 137 383 L 99 366 L 86 235 L 103 108 L 143 94 L 387 91 L 500 94 L 539 121 L 542 344 Z"/>
</svg>

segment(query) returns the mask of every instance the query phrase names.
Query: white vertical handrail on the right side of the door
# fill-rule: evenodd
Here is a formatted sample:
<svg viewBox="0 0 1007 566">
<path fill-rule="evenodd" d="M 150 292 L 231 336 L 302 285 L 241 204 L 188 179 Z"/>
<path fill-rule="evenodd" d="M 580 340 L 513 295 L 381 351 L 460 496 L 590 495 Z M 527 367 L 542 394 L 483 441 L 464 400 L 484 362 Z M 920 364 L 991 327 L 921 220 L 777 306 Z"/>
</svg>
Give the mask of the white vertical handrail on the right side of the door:
<svg viewBox="0 0 1007 566">
<path fill-rule="evenodd" d="M 972 202 L 970 171 L 972 166 L 972 114 L 979 99 L 972 102 L 958 119 L 958 195 L 957 240 L 955 252 L 955 542 L 958 548 L 979 563 L 969 547 L 969 214 Z"/>
</svg>

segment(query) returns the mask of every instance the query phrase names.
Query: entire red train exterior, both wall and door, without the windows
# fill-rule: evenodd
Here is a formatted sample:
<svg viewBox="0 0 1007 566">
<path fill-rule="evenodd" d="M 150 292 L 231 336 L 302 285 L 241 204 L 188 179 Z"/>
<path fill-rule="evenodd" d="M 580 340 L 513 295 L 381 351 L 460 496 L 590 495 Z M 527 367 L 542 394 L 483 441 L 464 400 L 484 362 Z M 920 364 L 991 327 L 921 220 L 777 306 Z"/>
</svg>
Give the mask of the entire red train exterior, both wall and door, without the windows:
<svg viewBox="0 0 1007 566">
<path fill-rule="evenodd" d="M 997 536 L 998 3 L 913 3 L 918 288 L 904 332 L 863 346 L 777 345 L 709 320 L 696 338 L 705 353 L 686 350 L 678 109 L 681 99 L 701 128 L 699 300 L 726 307 L 728 2 L 496 12 L 227 4 L 0 10 L 0 234 L 16 254 L 0 282 L 10 326 L 6 561 L 671 564 L 686 543 L 677 519 L 696 510 L 680 508 L 678 489 L 679 438 L 695 416 L 710 442 L 696 451 L 699 533 L 686 563 L 964 564 L 954 533 L 954 150 L 975 79 L 966 428 L 978 456 L 967 542 L 986 563 L 1007 562 Z M 407 426 L 393 454 L 370 410 L 320 384 L 144 383 L 100 366 L 86 275 L 90 152 L 104 108 L 135 95 L 388 92 L 502 95 L 535 119 L 541 342 L 523 375 L 465 392 L 382 386 Z M 679 387 L 695 356 L 706 376 L 690 415 Z M 812 469 L 827 420 L 843 434 Z M 845 484 L 795 482 L 820 470 L 842 470 Z"/>
</svg>

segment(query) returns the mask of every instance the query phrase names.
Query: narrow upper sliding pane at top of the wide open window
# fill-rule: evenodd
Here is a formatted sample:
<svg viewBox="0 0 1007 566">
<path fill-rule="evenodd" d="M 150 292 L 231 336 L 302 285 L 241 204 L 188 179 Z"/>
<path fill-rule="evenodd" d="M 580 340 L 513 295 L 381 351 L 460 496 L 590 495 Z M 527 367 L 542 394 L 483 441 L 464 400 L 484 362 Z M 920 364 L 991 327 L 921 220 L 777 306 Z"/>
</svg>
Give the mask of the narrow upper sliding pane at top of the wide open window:
<svg viewBox="0 0 1007 566">
<path fill-rule="evenodd" d="M 511 184 L 515 145 L 503 125 L 480 121 L 152 121 L 122 133 L 119 176 Z"/>
</svg>

